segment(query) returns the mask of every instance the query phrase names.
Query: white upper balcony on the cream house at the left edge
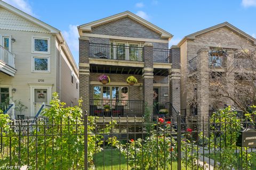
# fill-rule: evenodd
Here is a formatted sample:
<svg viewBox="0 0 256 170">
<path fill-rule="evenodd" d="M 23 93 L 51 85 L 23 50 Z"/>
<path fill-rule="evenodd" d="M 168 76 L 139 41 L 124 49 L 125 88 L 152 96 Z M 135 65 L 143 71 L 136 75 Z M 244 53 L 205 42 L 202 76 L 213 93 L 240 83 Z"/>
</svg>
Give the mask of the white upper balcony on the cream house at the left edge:
<svg viewBox="0 0 256 170">
<path fill-rule="evenodd" d="M 14 65 L 15 55 L 0 45 L 0 71 L 13 76 L 17 70 Z"/>
</svg>

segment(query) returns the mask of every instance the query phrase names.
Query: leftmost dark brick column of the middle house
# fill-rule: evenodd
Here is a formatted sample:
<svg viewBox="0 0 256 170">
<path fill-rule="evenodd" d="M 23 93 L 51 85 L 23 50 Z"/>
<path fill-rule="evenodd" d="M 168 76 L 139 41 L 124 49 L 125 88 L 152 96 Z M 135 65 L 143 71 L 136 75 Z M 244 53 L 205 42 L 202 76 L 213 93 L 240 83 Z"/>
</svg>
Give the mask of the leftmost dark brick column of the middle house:
<svg viewBox="0 0 256 170">
<path fill-rule="evenodd" d="M 79 96 L 83 99 L 83 113 L 90 112 L 89 38 L 79 38 Z"/>
</svg>

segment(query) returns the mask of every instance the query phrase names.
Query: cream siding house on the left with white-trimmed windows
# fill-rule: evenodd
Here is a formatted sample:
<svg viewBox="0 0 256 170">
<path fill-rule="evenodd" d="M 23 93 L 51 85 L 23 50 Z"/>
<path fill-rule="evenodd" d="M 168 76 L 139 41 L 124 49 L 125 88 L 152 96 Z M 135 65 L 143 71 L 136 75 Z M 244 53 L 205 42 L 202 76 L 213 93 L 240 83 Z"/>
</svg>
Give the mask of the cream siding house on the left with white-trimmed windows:
<svg viewBox="0 0 256 170">
<path fill-rule="evenodd" d="M 37 52 L 34 41 L 42 43 L 41 40 L 47 42 L 47 47 L 43 52 Z M 2 56 L 15 56 L 15 65 L 11 67 L 3 58 L 0 60 L 2 100 L 9 95 L 12 101 L 21 101 L 27 107 L 22 111 L 25 116 L 35 116 L 43 102 L 50 104 L 54 91 L 59 92 L 61 101 L 68 106 L 77 104 L 78 69 L 58 29 L 0 1 L 0 45 L 5 47 Z M 43 70 L 35 68 L 35 63 L 41 66 L 42 62 L 46 64 Z M 73 84 L 72 74 L 75 81 Z M 15 112 L 17 114 L 20 113 Z"/>
</svg>

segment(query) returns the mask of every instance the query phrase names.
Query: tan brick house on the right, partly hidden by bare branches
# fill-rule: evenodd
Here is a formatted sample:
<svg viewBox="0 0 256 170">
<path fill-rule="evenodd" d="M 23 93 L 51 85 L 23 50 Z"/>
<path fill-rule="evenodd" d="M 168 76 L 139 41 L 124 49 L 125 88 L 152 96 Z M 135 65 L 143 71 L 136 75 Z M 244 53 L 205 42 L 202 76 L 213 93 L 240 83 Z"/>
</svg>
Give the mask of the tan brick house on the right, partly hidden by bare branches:
<svg viewBox="0 0 256 170">
<path fill-rule="evenodd" d="M 224 106 L 236 107 L 230 99 L 223 99 L 222 103 L 215 106 L 213 96 L 209 91 L 208 77 L 213 72 L 225 73 L 228 63 L 236 62 L 242 66 L 246 66 L 246 58 L 239 59 L 234 54 L 241 50 L 242 47 L 255 50 L 256 39 L 247 35 L 247 33 L 239 30 L 228 22 L 224 22 L 213 27 L 192 33 L 184 37 L 178 44 L 180 47 L 181 58 L 181 111 L 187 114 L 189 121 L 197 121 L 204 116 L 205 120 L 209 117 L 209 113 Z M 215 49 L 225 49 L 228 57 L 212 55 Z M 215 61 L 215 63 L 214 63 Z M 239 63 L 240 62 L 240 63 Z M 241 63 L 243 62 L 243 63 Z M 238 69 L 230 73 L 229 78 L 235 80 Z M 194 92 L 197 95 L 197 106 L 189 105 L 189 100 L 193 92 L 188 89 L 187 82 L 197 77 L 197 87 Z M 232 87 L 227 87 L 231 89 Z M 233 89 L 234 90 L 234 89 Z"/>
</svg>

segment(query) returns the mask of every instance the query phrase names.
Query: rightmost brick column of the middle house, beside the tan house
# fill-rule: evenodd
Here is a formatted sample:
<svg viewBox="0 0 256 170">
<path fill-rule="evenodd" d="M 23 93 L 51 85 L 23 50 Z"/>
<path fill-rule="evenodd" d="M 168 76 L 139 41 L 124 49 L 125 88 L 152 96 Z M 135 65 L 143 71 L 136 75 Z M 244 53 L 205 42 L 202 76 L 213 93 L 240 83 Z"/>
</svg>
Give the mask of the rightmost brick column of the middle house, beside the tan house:
<svg viewBox="0 0 256 170">
<path fill-rule="evenodd" d="M 175 111 L 180 111 L 180 47 L 172 46 L 169 54 L 169 63 L 172 63 L 172 69 L 169 70 L 169 93 L 170 102 Z M 176 116 L 177 113 L 172 107 L 169 108 L 170 114 Z M 185 111 L 181 111 L 185 115 Z"/>
</svg>

